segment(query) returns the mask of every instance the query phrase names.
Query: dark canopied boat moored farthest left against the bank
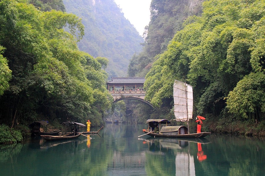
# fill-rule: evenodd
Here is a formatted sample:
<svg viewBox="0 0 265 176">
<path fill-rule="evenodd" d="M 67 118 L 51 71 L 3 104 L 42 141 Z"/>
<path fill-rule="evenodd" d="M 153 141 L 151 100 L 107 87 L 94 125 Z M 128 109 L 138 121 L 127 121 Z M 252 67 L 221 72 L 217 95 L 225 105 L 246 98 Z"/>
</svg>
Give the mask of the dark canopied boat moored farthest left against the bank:
<svg viewBox="0 0 265 176">
<path fill-rule="evenodd" d="M 47 132 L 44 132 L 44 129 L 41 127 L 42 125 L 46 127 Z M 48 132 L 48 128 L 47 128 L 48 125 L 49 125 L 49 122 L 44 121 L 44 120 L 34 121 L 33 123 L 31 123 L 29 127 L 32 128 L 31 130 L 32 136 L 40 136 L 40 135 L 57 136 L 58 133 L 61 132 L 61 130 L 54 130 L 54 131 Z"/>
</svg>

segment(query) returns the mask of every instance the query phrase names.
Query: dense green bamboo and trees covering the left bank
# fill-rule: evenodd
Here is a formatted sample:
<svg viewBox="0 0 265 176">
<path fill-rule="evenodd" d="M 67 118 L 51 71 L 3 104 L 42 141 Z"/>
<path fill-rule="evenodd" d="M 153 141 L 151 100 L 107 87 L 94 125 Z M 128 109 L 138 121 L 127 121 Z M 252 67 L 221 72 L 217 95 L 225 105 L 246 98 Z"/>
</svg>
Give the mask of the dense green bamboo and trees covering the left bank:
<svg viewBox="0 0 265 176">
<path fill-rule="evenodd" d="M 82 123 L 89 117 L 100 125 L 111 100 L 107 73 L 101 70 L 107 59 L 101 65 L 78 49 L 84 35 L 81 19 L 62 11 L 40 11 L 27 1 L 3 0 L 0 7 L 0 122 Z"/>
</svg>

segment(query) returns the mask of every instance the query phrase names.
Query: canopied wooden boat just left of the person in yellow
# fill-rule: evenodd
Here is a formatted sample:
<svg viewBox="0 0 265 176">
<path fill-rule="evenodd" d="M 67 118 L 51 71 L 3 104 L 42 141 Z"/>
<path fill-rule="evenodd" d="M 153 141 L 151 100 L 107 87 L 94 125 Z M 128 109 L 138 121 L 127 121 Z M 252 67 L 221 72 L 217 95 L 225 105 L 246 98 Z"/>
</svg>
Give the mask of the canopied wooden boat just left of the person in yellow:
<svg viewBox="0 0 265 176">
<path fill-rule="evenodd" d="M 70 126 L 71 133 L 67 133 L 65 135 L 62 134 L 61 136 L 41 135 L 41 137 L 44 138 L 46 141 L 75 139 L 81 135 L 81 133 L 79 133 L 79 126 L 85 126 L 82 123 L 71 121 L 63 122 L 61 124 L 64 126 Z"/>
</svg>

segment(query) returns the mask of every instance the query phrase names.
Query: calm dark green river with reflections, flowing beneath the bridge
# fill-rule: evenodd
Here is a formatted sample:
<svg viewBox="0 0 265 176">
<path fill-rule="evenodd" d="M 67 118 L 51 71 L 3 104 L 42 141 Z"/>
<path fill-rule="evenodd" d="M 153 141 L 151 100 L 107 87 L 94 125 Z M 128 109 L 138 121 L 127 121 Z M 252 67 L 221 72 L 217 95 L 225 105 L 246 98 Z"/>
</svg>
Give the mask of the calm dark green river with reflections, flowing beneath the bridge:
<svg viewBox="0 0 265 176">
<path fill-rule="evenodd" d="M 0 145 L 1 176 L 264 176 L 265 139 L 211 134 L 153 138 L 145 125 L 106 124 L 99 135 Z M 97 131 L 91 128 L 91 131 Z"/>
</svg>

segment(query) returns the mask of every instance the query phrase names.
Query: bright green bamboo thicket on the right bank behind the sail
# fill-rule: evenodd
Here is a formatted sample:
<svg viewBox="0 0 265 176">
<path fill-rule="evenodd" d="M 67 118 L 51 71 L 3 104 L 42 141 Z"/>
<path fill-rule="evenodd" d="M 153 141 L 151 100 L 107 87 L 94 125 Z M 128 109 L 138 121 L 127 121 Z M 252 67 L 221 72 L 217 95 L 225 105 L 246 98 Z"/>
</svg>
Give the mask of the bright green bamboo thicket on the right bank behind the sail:
<svg viewBox="0 0 265 176">
<path fill-rule="evenodd" d="M 152 3 L 149 25 L 165 16 L 163 4 Z M 264 135 L 264 9 L 264 1 L 204 1 L 201 15 L 186 18 L 166 50 L 144 61 L 146 100 L 167 107 L 164 116 L 173 117 L 177 79 L 193 86 L 193 115 L 206 117 L 207 131 Z"/>
</svg>

